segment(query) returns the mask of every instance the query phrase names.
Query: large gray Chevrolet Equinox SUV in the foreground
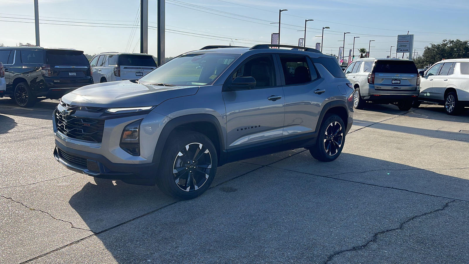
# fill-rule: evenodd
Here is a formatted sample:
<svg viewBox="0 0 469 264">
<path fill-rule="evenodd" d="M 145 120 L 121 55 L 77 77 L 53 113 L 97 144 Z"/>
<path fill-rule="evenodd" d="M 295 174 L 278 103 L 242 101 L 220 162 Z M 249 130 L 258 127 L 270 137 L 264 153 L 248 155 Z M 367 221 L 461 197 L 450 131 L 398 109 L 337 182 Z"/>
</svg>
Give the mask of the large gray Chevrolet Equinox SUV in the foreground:
<svg viewBox="0 0 469 264">
<path fill-rule="evenodd" d="M 337 60 L 316 49 L 204 47 L 138 80 L 63 96 L 54 157 L 73 171 L 192 199 L 226 163 L 295 148 L 335 160 L 352 125 L 352 92 Z"/>
</svg>

